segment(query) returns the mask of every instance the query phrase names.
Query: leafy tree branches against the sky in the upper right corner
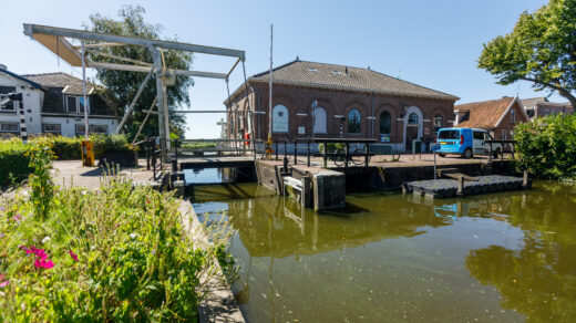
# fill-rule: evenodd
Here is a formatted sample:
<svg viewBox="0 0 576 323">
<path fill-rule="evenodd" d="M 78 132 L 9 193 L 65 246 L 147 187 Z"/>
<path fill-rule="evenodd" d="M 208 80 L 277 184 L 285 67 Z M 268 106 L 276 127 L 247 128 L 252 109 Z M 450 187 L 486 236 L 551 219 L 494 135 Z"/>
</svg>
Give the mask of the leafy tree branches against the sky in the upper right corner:
<svg viewBox="0 0 576 323">
<path fill-rule="evenodd" d="M 511 33 L 484 44 L 479 67 L 498 84 L 529 81 L 536 91 L 556 91 L 576 106 L 576 0 L 551 0 L 523 12 Z"/>
</svg>

